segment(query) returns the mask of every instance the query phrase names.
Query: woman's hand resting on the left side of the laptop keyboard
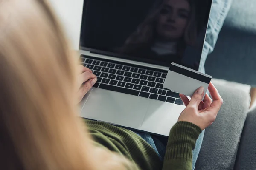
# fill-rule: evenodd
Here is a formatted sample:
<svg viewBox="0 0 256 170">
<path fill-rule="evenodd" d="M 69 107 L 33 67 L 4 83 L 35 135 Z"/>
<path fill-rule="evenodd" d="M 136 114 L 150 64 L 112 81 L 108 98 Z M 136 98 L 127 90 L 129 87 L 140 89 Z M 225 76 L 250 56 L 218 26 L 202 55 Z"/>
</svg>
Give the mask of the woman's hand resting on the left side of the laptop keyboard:
<svg viewBox="0 0 256 170">
<path fill-rule="evenodd" d="M 81 102 L 84 95 L 93 87 L 97 82 L 97 77 L 93 72 L 82 65 L 78 67 L 78 102 Z"/>
</svg>

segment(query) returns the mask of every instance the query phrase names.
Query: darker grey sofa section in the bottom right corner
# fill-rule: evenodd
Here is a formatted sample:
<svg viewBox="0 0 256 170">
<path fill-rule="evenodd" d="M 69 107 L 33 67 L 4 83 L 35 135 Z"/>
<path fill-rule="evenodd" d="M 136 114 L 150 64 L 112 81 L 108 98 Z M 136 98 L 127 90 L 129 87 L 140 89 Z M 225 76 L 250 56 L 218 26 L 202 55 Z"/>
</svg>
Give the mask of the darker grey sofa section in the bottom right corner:
<svg viewBox="0 0 256 170">
<path fill-rule="evenodd" d="M 256 170 L 256 108 L 248 113 L 245 121 L 235 170 Z"/>
</svg>

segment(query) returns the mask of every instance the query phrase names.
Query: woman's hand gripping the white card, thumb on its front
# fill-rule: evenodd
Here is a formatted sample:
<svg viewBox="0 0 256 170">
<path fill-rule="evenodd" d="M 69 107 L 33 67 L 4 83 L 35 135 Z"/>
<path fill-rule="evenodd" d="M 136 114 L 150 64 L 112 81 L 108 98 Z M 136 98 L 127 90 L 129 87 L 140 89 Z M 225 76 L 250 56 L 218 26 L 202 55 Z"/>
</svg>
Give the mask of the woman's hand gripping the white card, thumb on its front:
<svg viewBox="0 0 256 170">
<path fill-rule="evenodd" d="M 218 111 L 223 104 L 223 99 L 218 93 L 218 90 L 214 87 L 212 83 L 209 84 L 208 90 L 212 96 L 212 99 L 205 95 L 204 101 L 202 102 L 204 88 L 200 87 L 195 91 L 191 100 L 180 94 L 180 98 L 186 105 L 186 108 L 180 114 L 178 121 L 191 122 L 204 130 L 209 125 L 215 121 Z"/>
</svg>

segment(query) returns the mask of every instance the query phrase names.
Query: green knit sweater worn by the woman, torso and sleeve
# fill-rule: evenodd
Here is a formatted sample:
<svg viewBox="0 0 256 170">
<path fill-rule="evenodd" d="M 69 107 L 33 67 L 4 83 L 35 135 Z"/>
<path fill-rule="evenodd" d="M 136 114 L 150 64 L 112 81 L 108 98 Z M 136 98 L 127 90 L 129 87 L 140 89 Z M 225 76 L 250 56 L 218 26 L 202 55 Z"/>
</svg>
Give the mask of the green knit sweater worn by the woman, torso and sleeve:
<svg viewBox="0 0 256 170">
<path fill-rule="evenodd" d="M 200 127 L 177 122 L 171 129 L 164 161 L 144 139 L 131 130 L 104 122 L 86 120 L 93 139 L 102 147 L 126 156 L 140 170 L 192 170 L 192 150 Z"/>
</svg>

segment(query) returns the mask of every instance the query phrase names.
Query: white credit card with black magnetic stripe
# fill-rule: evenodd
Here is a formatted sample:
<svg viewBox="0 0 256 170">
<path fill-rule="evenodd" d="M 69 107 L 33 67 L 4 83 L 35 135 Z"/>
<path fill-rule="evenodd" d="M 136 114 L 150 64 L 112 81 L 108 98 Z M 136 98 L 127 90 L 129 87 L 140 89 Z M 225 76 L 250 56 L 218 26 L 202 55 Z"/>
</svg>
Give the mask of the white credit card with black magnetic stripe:
<svg viewBox="0 0 256 170">
<path fill-rule="evenodd" d="M 211 79 L 212 77 L 207 74 L 172 62 L 163 87 L 191 97 L 199 87 L 203 86 L 205 96 Z"/>
</svg>

